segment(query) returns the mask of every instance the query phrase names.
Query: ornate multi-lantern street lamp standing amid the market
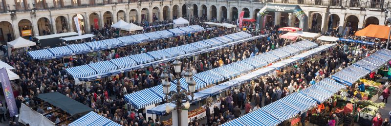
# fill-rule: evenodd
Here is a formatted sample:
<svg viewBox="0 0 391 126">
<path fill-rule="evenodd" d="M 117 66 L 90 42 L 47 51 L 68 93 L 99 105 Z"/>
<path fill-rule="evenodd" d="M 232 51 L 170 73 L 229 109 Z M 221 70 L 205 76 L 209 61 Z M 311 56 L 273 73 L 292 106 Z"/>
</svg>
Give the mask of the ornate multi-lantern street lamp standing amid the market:
<svg viewBox="0 0 391 126">
<path fill-rule="evenodd" d="M 180 72 L 181 72 L 181 65 L 182 65 L 182 62 L 179 61 L 179 59 L 175 59 L 175 61 L 173 62 L 173 66 L 174 66 L 174 72 L 175 72 L 175 78 L 176 78 L 176 91 L 169 91 L 170 90 L 170 82 L 168 82 L 168 76 L 166 77 L 164 73 L 162 73 L 161 77 L 166 77 L 165 78 L 165 81 L 162 82 L 162 85 L 163 85 L 163 92 L 166 94 L 166 101 L 167 102 L 171 102 L 173 104 L 175 104 L 175 109 L 176 109 L 176 112 L 177 112 L 177 118 L 178 118 L 178 126 L 180 126 L 181 124 L 181 118 L 180 118 L 180 113 L 182 111 L 182 108 L 186 108 L 188 109 L 190 107 L 190 101 L 193 101 L 193 98 L 194 98 L 194 91 L 195 91 L 195 81 L 193 80 L 193 73 L 190 73 L 190 70 L 187 70 L 187 72 L 185 73 L 185 76 L 188 77 L 186 79 L 186 83 L 188 84 L 188 92 L 191 92 L 191 96 L 192 96 L 192 99 L 190 100 L 189 97 L 187 96 L 187 91 L 186 90 L 182 90 L 181 91 L 181 87 L 180 87 L 180 81 L 179 81 L 179 78 L 180 78 Z M 164 71 L 164 72 L 167 72 L 167 71 Z M 167 74 L 167 73 L 166 73 Z M 169 96 L 170 96 L 170 99 L 169 99 Z M 167 110 L 172 110 L 172 109 L 168 109 Z M 169 113 L 170 111 L 166 111 L 167 113 Z"/>
</svg>

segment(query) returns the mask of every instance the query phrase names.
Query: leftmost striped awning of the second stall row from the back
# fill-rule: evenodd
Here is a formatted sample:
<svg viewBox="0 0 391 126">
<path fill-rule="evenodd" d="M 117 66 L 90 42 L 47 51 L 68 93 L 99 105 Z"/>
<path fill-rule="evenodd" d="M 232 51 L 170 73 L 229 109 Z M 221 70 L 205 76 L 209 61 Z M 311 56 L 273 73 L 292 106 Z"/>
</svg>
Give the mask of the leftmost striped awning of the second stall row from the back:
<svg viewBox="0 0 391 126">
<path fill-rule="evenodd" d="M 96 74 L 94 69 L 92 69 L 88 65 L 67 68 L 65 69 L 65 71 L 68 72 L 75 79 Z"/>
</svg>

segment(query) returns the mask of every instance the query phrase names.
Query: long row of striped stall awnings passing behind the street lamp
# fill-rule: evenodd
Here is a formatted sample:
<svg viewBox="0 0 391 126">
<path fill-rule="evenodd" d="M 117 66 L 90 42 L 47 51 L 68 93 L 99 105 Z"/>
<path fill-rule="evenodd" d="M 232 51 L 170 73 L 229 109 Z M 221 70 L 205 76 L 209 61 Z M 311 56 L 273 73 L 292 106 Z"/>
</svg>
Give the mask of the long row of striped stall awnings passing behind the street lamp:
<svg viewBox="0 0 391 126">
<path fill-rule="evenodd" d="M 284 57 L 299 54 L 300 52 L 306 51 L 308 49 L 316 47 L 317 44 L 309 42 L 309 41 L 301 41 L 297 42 L 295 44 L 291 44 L 285 47 L 282 47 L 280 49 L 276 49 L 274 51 L 263 53 L 254 57 L 247 58 L 243 61 L 238 61 L 235 63 L 231 63 L 229 65 L 225 65 L 219 68 L 215 68 L 209 71 L 200 72 L 195 75 L 193 75 L 193 79 L 196 81 L 196 90 L 199 90 L 197 93 L 195 93 L 194 102 L 201 101 L 207 97 L 215 96 L 219 93 L 222 93 L 226 90 L 229 90 L 230 88 L 238 86 L 240 83 L 244 83 L 246 80 L 240 80 L 239 79 L 233 79 L 231 81 L 227 81 L 225 83 L 222 83 L 220 85 L 214 86 L 213 84 L 217 84 L 219 82 L 222 82 L 228 78 L 235 77 L 239 74 L 244 74 L 246 72 L 250 72 L 255 69 L 262 68 L 264 66 L 267 66 L 270 63 L 273 63 L 275 61 L 278 61 Z M 323 47 L 321 47 L 323 48 Z M 324 48 L 326 49 L 326 48 Z M 315 52 L 312 52 L 315 53 Z M 298 59 L 300 60 L 300 59 Z M 258 72 L 259 74 L 267 74 L 267 72 L 273 72 L 275 69 L 260 69 L 261 71 L 257 70 L 255 72 Z M 249 73 L 251 75 L 255 75 L 255 73 Z M 245 75 L 245 77 L 248 77 L 248 75 Z M 180 78 L 180 86 L 183 90 L 188 89 L 188 84 L 186 83 L 184 78 Z M 233 82 L 235 81 L 235 82 Z M 176 82 L 172 81 L 172 86 L 170 87 L 170 90 L 175 91 L 175 85 Z M 145 96 L 148 96 L 146 98 Z M 155 107 L 155 104 L 162 102 L 162 99 L 165 97 L 165 94 L 163 93 L 162 86 L 155 86 L 149 89 L 140 90 L 134 93 L 130 93 L 125 96 L 126 101 L 128 101 L 134 108 L 141 109 L 146 108 L 147 113 L 151 114 L 158 114 L 162 115 L 165 114 L 165 105 L 160 105 Z M 191 96 L 189 95 L 191 98 Z M 139 99 L 143 98 L 145 100 L 140 101 Z M 170 103 L 168 103 L 170 104 Z M 155 108 L 154 108 L 155 107 Z M 164 108 L 164 109 L 163 109 Z M 195 109 L 196 113 L 200 113 L 198 110 Z M 202 109 L 201 109 L 202 110 Z M 191 111 L 193 112 L 193 111 Z M 202 112 L 201 112 L 202 113 Z M 189 115 L 195 115 L 195 114 L 189 114 Z M 198 118 L 199 119 L 199 118 Z"/>
</svg>

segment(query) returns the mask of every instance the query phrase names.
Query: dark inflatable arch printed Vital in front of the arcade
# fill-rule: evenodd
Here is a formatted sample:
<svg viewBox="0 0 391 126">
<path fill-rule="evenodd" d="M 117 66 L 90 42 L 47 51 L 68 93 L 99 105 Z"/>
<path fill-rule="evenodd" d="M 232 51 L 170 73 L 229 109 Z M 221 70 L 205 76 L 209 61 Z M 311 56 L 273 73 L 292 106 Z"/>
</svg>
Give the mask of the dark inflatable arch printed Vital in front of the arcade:
<svg viewBox="0 0 391 126">
<path fill-rule="evenodd" d="M 263 17 L 270 11 L 293 13 L 300 20 L 299 27 L 304 31 L 308 30 L 308 17 L 299 5 L 282 5 L 273 3 L 266 3 L 266 5 L 263 6 L 263 8 L 257 13 L 257 29 L 262 29 Z"/>
</svg>

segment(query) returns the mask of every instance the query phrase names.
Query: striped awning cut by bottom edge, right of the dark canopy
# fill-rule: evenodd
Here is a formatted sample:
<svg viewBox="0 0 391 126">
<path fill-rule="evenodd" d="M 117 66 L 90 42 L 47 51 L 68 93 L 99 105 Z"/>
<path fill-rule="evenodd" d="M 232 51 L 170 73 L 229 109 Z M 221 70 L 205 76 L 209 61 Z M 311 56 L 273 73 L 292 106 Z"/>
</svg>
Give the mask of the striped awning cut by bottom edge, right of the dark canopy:
<svg viewBox="0 0 391 126">
<path fill-rule="evenodd" d="M 87 113 L 79 119 L 73 121 L 68 126 L 121 126 L 109 118 L 99 115 L 94 111 Z"/>
</svg>

